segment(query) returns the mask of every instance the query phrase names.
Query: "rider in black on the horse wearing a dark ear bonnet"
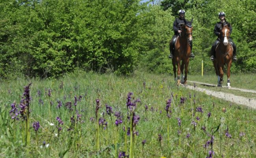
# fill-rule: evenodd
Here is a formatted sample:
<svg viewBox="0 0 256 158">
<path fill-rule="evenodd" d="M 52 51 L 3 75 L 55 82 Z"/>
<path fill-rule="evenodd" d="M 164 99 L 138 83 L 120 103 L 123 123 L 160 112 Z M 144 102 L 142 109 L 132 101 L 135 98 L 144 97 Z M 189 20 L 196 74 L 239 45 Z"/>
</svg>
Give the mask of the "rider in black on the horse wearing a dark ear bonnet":
<svg viewBox="0 0 256 158">
<path fill-rule="evenodd" d="M 173 51 L 174 51 L 174 45 L 177 39 L 177 36 L 180 35 L 181 33 L 181 26 L 180 24 L 186 24 L 186 19 L 185 19 L 185 11 L 183 9 L 179 10 L 179 17 L 176 18 L 173 22 L 173 30 L 174 30 L 174 35 L 171 40 L 171 46 L 170 46 L 170 55 L 169 58 L 173 58 Z M 191 54 L 189 57 L 194 58 L 195 55 L 192 53 L 192 41 L 190 43 L 190 49 L 191 49 Z"/>
</svg>

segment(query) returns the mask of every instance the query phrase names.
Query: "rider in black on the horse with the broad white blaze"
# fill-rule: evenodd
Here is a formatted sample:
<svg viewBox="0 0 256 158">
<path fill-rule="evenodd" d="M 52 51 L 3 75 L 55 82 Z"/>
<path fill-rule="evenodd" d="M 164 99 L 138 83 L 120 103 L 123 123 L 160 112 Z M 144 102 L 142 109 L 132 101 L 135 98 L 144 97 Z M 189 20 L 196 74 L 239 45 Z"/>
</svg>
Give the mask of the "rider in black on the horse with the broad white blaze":
<svg viewBox="0 0 256 158">
<path fill-rule="evenodd" d="M 216 49 L 216 46 L 219 44 L 219 42 L 221 41 L 221 39 L 219 38 L 219 35 L 221 34 L 221 24 L 224 24 L 226 25 L 228 22 L 226 21 L 226 18 L 225 18 L 225 13 L 223 11 L 219 12 L 219 19 L 221 20 L 220 22 L 217 22 L 217 24 L 215 24 L 214 26 L 214 34 L 216 36 L 218 36 L 217 40 L 215 40 L 214 44 L 212 45 L 211 47 L 211 60 L 213 61 L 214 58 L 215 58 L 215 49 Z M 229 27 L 230 29 L 230 35 L 232 33 L 232 26 L 230 25 Z M 236 61 L 237 58 L 236 58 L 236 45 L 234 44 L 233 40 L 231 38 L 229 38 L 229 42 L 230 44 L 232 45 L 233 47 L 233 60 Z"/>
</svg>

